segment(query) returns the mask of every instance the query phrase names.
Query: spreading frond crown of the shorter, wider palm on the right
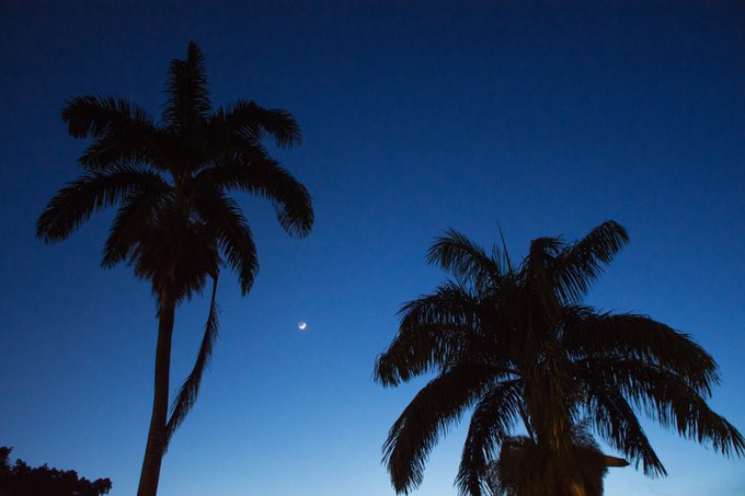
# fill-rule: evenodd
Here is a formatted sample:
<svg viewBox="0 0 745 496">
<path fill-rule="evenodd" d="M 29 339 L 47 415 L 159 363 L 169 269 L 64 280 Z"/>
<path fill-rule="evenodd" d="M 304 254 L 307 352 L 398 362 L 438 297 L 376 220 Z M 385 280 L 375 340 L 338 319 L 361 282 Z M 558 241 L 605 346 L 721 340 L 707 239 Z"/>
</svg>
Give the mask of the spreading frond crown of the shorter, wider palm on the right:
<svg viewBox="0 0 745 496">
<path fill-rule="evenodd" d="M 456 231 L 436 240 L 427 261 L 455 279 L 403 305 L 399 333 L 375 366 L 375 379 L 385 387 L 436 372 L 383 445 L 397 493 L 422 482 L 429 451 L 469 408 L 457 476 L 461 494 L 489 491 L 489 470 L 500 451 L 571 458 L 583 418 L 647 475 L 664 475 L 665 468 L 639 411 L 725 455 L 745 453 L 742 435 L 707 405 L 719 380 L 711 356 L 647 316 L 582 304 L 627 242 L 623 228 L 608 221 L 574 243 L 534 240 L 515 267 L 504 240 L 490 254 Z M 518 423 L 526 438 L 515 439 Z M 604 460 L 614 465 L 618 459 Z M 566 488 L 581 483 L 572 477 Z"/>
</svg>

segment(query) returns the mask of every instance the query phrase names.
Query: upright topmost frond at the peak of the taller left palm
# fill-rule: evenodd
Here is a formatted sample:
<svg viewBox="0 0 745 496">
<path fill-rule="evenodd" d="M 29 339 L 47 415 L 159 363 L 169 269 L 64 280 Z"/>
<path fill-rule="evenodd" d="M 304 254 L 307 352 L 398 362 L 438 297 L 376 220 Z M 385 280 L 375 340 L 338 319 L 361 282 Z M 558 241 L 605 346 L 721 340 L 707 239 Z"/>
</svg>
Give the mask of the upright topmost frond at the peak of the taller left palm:
<svg viewBox="0 0 745 496">
<path fill-rule="evenodd" d="M 202 50 L 190 42 L 185 60 L 174 59 L 169 68 L 163 122 L 181 132 L 193 132 L 209 117 L 211 104 Z"/>
</svg>

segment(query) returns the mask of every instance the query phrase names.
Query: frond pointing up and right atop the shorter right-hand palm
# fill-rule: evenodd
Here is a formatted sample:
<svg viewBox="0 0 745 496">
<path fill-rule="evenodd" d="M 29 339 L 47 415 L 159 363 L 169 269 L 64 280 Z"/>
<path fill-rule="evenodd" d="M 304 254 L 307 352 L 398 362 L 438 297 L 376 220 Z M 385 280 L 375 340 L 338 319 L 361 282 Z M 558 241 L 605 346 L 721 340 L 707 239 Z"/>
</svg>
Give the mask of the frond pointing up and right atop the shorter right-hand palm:
<svg viewBox="0 0 745 496">
<path fill-rule="evenodd" d="M 580 302 L 589 285 L 601 274 L 616 253 L 629 242 L 626 229 L 606 221 L 582 240 L 561 250 L 557 257 L 555 285 L 565 301 Z"/>
</svg>

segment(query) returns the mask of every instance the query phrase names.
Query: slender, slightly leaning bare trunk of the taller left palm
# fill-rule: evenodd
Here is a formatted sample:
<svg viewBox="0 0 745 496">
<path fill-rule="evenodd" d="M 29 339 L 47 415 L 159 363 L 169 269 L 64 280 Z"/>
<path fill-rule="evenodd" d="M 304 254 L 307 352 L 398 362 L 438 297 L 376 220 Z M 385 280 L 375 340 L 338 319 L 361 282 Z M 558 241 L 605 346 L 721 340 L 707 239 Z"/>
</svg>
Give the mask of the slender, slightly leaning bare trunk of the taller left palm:
<svg viewBox="0 0 745 496">
<path fill-rule="evenodd" d="M 160 322 L 158 325 L 158 348 L 156 350 L 156 389 L 152 400 L 148 443 L 145 449 L 145 460 L 142 461 L 142 472 L 140 473 L 137 496 L 156 496 L 158 493 L 160 464 L 165 446 L 174 312 L 173 282 L 167 281 L 160 291 Z"/>
</svg>

